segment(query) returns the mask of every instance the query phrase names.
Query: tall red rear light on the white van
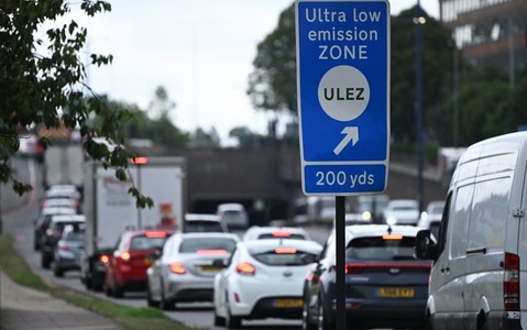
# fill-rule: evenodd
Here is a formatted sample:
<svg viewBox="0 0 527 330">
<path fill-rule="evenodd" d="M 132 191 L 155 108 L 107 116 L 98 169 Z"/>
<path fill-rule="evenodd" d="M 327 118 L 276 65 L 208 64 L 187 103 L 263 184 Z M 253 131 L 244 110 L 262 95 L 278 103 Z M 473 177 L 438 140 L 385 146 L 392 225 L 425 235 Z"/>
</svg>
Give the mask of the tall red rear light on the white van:
<svg viewBox="0 0 527 330">
<path fill-rule="evenodd" d="M 506 311 L 519 311 L 519 256 L 505 253 L 503 304 Z"/>
</svg>

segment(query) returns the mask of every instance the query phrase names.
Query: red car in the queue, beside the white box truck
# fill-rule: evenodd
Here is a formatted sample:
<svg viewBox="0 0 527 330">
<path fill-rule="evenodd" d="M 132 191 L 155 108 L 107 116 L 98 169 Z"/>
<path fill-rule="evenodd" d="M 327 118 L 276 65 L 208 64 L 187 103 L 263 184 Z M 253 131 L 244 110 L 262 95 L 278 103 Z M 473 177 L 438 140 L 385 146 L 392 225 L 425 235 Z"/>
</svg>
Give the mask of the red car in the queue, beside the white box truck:
<svg viewBox="0 0 527 330">
<path fill-rule="evenodd" d="M 163 249 L 169 230 L 125 231 L 119 238 L 117 249 L 106 263 L 105 293 L 122 297 L 124 292 L 146 289 L 146 270 L 151 266 L 152 254 Z"/>
</svg>

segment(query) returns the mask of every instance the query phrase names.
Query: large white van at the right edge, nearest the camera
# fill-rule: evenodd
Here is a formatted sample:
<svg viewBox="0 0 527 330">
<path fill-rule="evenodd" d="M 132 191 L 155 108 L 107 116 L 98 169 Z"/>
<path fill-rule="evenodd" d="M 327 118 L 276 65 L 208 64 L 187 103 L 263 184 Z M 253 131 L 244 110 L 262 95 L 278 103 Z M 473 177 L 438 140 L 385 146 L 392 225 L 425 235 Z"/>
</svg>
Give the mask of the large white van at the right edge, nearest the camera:
<svg viewBox="0 0 527 330">
<path fill-rule="evenodd" d="M 432 258 L 429 329 L 527 329 L 527 132 L 470 146 L 453 173 Z"/>
</svg>

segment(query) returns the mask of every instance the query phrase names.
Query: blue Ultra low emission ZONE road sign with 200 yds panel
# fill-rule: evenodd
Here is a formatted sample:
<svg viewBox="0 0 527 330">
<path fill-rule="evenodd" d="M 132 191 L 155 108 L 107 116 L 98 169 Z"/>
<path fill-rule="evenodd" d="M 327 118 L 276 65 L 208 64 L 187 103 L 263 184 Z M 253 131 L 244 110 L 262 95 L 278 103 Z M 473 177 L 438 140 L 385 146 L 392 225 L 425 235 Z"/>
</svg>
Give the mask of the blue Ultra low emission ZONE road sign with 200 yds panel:
<svg viewBox="0 0 527 330">
<path fill-rule="evenodd" d="M 389 151 L 389 3 L 297 0 L 305 195 L 383 193 Z"/>
</svg>

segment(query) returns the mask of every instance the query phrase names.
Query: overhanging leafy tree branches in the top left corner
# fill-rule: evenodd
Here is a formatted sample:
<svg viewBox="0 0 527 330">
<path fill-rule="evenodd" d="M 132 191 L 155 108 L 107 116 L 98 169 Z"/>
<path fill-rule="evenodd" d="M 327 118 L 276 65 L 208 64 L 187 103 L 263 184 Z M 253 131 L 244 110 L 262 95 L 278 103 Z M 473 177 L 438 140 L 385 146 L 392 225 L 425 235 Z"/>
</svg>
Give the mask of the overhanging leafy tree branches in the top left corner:
<svg viewBox="0 0 527 330">
<path fill-rule="evenodd" d="M 95 136 L 107 136 L 122 144 L 122 123 L 131 117 L 125 109 L 110 109 L 86 85 L 81 55 L 88 32 L 68 20 L 73 6 L 88 16 L 111 10 L 109 2 L 100 0 L 4 0 L 0 4 L 0 182 L 10 182 L 21 195 L 32 187 L 13 178 L 9 167 L 9 158 L 19 148 L 20 129 L 62 124 L 78 128 L 87 153 L 105 166 L 114 167 L 119 179 L 124 179 L 124 168 L 133 156 L 120 146 L 110 152 L 94 141 Z M 112 59 L 111 55 L 90 54 L 89 65 L 99 67 Z M 100 120 L 94 121 L 95 117 Z M 52 141 L 41 138 L 39 143 L 47 147 Z M 134 187 L 131 193 L 138 197 L 138 205 L 152 206 L 152 200 Z"/>
</svg>

